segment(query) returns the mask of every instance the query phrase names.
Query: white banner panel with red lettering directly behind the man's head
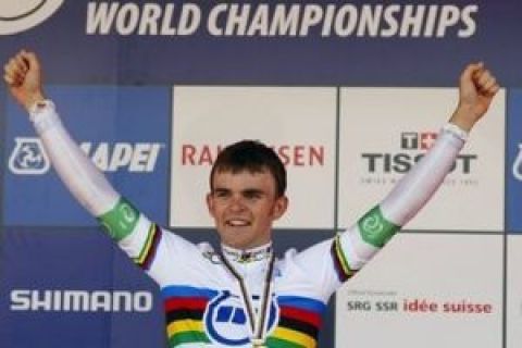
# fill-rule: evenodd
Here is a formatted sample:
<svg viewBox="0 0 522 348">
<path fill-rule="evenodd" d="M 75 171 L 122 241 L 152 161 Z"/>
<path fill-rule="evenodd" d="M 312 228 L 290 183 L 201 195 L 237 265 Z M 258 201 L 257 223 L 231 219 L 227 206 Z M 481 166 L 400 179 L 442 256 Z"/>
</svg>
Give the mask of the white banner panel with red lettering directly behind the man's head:
<svg viewBox="0 0 522 348">
<path fill-rule="evenodd" d="M 216 154 L 258 139 L 288 171 L 290 203 L 276 226 L 333 227 L 335 88 L 175 87 L 173 103 L 171 226 L 213 226 L 204 195 Z"/>
</svg>

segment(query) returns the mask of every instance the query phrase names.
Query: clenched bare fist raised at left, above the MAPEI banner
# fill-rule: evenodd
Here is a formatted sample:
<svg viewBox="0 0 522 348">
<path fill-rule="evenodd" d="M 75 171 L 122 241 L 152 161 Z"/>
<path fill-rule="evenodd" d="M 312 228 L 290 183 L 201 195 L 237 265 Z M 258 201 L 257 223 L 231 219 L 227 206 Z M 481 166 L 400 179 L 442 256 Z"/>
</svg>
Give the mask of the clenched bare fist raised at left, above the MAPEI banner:
<svg viewBox="0 0 522 348">
<path fill-rule="evenodd" d="M 20 51 L 9 60 L 3 70 L 3 79 L 11 95 L 27 111 L 36 102 L 45 99 L 40 63 L 35 53 Z"/>
</svg>

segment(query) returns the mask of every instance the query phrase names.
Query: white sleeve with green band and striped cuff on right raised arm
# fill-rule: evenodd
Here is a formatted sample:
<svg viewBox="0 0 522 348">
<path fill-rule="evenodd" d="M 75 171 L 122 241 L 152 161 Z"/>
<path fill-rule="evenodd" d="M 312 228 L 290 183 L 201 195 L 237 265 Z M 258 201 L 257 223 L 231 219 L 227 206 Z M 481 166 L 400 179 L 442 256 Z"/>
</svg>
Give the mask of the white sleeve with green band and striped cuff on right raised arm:
<svg viewBox="0 0 522 348">
<path fill-rule="evenodd" d="M 341 281 L 359 271 L 435 194 L 464 146 L 465 134 L 447 125 L 432 149 L 384 200 L 334 240 L 333 254 Z"/>
</svg>

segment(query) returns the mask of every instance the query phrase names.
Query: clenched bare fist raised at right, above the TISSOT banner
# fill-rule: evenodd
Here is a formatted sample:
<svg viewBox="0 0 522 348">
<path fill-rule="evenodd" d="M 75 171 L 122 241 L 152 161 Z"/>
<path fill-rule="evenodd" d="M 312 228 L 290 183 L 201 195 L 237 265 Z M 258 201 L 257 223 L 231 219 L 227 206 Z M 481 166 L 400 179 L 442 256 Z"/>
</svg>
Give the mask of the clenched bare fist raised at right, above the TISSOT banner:
<svg viewBox="0 0 522 348">
<path fill-rule="evenodd" d="M 459 104 L 449 122 L 471 130 L 486 113 L 499 89 L 495 76 L 484 67 L 484 63 L 469 64 L 460 75 Z"/>
</svg>

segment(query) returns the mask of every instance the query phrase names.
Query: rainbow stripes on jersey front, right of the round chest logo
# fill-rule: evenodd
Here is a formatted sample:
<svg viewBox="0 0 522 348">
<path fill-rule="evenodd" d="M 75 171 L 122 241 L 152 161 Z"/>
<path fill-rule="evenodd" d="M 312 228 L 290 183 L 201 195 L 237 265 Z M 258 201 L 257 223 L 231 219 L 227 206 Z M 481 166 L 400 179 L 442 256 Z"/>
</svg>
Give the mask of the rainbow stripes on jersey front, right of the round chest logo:
<svg viewBox="0 0 522 348">
<path fill-rule="evenodd" d="M 314 348 L 326 308 L 321 301 L 306 297 L 279 296 L 279 322 L 266 339 L 271 348 Z"/>
</svg>

